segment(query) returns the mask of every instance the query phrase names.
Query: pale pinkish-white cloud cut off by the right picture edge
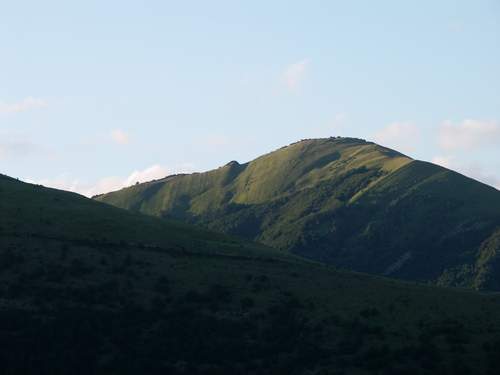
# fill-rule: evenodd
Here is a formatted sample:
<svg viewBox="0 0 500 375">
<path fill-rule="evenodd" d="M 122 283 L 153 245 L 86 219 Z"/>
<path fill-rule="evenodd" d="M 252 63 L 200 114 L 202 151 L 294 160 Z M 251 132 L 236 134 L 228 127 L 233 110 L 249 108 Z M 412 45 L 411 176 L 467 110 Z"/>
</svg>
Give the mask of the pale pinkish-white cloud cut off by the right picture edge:
<svg viewBox="0 0 500 375">
<path fill-rule="evenodd" d="M 500 125 L 496 122 L 467 119 L 458 124 L 445 121 L 439 127 L 439 146 L 443 150 L 474 150 L 493 145 L 500 145 Z"/>
</svg>

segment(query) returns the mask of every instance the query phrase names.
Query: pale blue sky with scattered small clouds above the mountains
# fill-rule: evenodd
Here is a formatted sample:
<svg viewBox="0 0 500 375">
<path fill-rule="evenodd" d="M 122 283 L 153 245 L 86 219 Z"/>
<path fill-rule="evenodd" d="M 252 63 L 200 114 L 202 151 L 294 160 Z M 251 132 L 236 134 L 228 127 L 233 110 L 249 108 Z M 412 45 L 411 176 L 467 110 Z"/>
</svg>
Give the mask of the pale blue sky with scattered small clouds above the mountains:
<svg viewBox="0 0 500 375">
<path fill-rule="evenodd" d="M 500 1 L 0 0 L 1 173 L 92 194 L 331 135 L 500 187 Z"/>
</svg>

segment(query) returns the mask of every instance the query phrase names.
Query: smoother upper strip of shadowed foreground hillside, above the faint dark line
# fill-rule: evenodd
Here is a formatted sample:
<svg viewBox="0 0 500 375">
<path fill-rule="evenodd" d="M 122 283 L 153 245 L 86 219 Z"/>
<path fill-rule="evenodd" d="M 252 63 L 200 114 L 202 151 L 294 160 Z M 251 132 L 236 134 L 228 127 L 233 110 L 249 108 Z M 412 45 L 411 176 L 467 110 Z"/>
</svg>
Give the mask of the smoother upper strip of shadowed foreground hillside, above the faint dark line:
<svg viewBox="0 0 500 375">
<path fill-rule="evenodd" d="M 137 215 L 62 190 L 20 183 L 0 175 L 0 233 L 73 242 L 186 249 L 204 253 L 283 256 L 277 251 L 236 237 L 183 224 Z"/>
</svg>

